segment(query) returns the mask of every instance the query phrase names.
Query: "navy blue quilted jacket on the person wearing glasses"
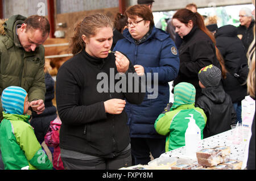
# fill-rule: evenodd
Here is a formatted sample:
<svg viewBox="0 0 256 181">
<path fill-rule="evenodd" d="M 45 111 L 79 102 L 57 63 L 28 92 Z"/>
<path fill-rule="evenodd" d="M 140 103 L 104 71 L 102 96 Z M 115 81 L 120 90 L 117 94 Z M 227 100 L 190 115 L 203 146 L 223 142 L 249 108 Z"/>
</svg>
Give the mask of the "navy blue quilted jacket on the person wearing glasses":
<svg viewBox="0 0 256 181">
<path fill-rule="evenodd" d="M 123 31 L 125 39 L 119 40 L 114 50 L 125 53 L 133 65 L 142 65 L 147 80 L 146 96 L 142 104 L 126 103 L 131 137 L 162 138 L 154 128 L 155 120 L 169 102 L 170 87 L 179 71 L 179 54 L 170 35 L 152 27 L 150 35 L 140 43 L 135 42 L 129 31 Z M 154 73 L 158 79 L 154 80 Z M 155 77 L 157 78 L 157 77 Z"/>
</svg>

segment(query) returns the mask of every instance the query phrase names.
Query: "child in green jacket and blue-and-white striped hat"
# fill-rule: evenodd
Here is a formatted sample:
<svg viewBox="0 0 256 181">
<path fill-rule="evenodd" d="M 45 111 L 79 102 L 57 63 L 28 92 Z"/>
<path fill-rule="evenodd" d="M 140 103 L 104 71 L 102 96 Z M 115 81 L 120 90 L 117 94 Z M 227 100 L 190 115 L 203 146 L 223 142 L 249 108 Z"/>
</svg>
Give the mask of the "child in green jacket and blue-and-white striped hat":
<svg viewBox="0 0 256 181">
<path fill-rule="evenodd" d="M 36 139 L 27 115 L 29 102 L 22 87 L 10 86 L 2 92 L 3 120 L 0 149 L 5 170 L 49 170 L 52 163 Z"/>
</svg>

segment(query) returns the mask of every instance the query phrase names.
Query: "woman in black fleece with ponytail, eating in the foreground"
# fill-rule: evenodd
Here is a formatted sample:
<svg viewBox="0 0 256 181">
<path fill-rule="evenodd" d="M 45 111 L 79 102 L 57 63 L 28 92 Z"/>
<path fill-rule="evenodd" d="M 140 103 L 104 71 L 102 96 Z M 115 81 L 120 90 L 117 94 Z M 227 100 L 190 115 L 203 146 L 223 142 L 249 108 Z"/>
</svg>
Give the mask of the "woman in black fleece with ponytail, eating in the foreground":
<svg viewBox="0 0 256 181">
<path fill-rule="evenodd" d="M 56 103 L 62 121 L 60 149 L 65 169 L 131 166 L 128 117 L 123 108 L 125 99 L 140 104 L 145 93 L 127 57 L 109 53 L 112 30 L 106 15 L 84 18 L 72 37 L 74 56 L 57 74 Z M 135 76 L 127 78 L 131 74 Z"/>
</svg>

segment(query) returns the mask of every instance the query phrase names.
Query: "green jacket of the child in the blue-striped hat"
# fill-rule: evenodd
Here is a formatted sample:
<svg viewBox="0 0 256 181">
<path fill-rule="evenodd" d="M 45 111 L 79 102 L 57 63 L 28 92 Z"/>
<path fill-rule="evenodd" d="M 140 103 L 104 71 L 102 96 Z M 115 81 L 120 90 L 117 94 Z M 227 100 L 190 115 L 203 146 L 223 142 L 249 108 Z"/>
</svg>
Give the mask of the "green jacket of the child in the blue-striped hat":
<svg viewBox="0 0 256 181">
<path fill-rule="evenodd" d="M 52 163 L 36 139 L 28 115 L 14 115 L 3 112 L 0 124 L 0 149 L 5 170 L 52 169 Z"/>
</svg>

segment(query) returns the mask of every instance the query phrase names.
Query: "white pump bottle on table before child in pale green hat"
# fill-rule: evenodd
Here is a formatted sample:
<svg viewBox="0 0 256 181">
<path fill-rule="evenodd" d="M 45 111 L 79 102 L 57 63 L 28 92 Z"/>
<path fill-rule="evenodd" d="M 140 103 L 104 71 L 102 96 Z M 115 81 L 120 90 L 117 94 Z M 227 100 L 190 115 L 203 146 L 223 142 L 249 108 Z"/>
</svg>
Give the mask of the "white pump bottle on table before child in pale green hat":
<svg viewBox="0 0 256 181">
<path fill-rule="evenodd" d="M 185 132 L 185 149 L 188 158 L 196 159 L 196 151 L 201 148 L 201 130 L 196 125 L 193 114 L 189 114 L 191 117 L 185 117 L 189 119 L 188 128 Z"/>
</svg>

